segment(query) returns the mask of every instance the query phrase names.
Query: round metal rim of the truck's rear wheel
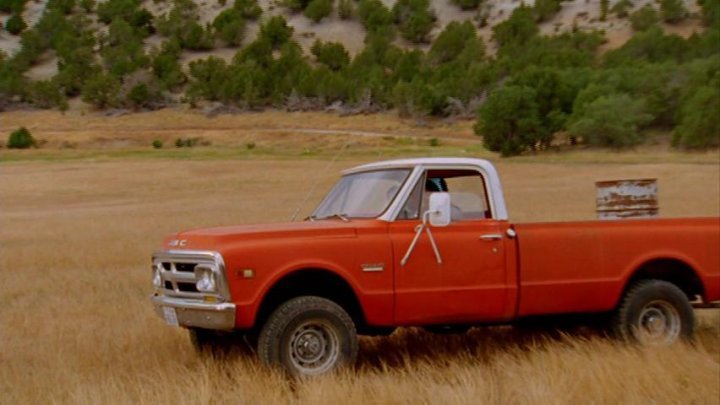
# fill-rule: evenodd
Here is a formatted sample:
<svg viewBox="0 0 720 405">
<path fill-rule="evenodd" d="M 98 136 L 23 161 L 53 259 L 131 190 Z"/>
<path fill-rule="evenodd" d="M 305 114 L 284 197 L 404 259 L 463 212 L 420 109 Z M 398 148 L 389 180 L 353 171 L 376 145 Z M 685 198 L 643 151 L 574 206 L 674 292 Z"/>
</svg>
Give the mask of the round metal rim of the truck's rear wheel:
<svg viewBox="0 0 720 405">
<path fill-rule="evenodd" d="M 669 345 L 680 336 L 680 315 L 665 301 L 652 301 L 640 311 L 636 325 L 638 340 L 651 345 Z"/>
</svg>

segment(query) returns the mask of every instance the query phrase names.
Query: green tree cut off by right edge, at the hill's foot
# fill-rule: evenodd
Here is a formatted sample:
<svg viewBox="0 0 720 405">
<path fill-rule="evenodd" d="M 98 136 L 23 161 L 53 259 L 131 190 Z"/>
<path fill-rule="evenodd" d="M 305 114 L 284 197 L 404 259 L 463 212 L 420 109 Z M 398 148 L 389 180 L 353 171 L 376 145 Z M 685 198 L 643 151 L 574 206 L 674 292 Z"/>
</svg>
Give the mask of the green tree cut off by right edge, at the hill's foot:
<svg viewBox="0 0 720 405">
<path fill-rule="evenodd" d="M 702 86 L 680 110 L 673 145 L 691 149 L 720 146 L 720 92 L 717 85 Z"/>
</svg>

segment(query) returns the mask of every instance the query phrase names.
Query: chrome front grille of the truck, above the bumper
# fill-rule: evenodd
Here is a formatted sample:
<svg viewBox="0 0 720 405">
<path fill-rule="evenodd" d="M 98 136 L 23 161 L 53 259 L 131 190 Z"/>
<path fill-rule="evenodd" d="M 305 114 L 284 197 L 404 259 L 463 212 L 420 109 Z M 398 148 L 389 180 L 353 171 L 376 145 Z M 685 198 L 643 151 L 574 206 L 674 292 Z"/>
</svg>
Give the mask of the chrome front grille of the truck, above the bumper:
<svg viewBox="0 0 720 405">
<path fill-rule="evenodd" d="M 215 294 L 201 293 L 195 283 L 195 267 L 202 265 L 213 270 L 218 285 Z M 216 252 L 205 251 L 160 251 L 153 255 L 153 267 L 161 269 L 162 287 L 158 292 L 178 298 L 197 298 L 216 296 L 222 300 L 227 297 L 225 284 L 225 268 L 222 257 Z"/>
</svg>

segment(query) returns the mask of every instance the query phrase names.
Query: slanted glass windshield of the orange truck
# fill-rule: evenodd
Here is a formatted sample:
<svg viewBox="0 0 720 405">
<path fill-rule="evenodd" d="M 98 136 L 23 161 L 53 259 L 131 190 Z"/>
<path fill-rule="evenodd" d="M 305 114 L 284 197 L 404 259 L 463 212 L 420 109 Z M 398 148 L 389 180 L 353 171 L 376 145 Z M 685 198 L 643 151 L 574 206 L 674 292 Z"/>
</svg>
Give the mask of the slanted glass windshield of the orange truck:
<svg viewBox="0 0 720 405">
<path fill-rule="evenodd" d="M 310 218 L 377 217 L 390 205 L 409 174 L 409 169 L 396 169 L 343 176 Z"/>
</svg>

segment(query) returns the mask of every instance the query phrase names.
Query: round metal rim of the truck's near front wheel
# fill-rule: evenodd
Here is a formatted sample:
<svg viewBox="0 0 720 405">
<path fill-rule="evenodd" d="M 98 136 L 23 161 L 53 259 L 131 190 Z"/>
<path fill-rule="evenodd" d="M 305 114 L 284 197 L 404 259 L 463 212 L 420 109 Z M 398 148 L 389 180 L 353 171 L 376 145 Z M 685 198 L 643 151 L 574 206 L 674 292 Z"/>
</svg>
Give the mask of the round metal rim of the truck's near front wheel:
<svg viewBox="0 0 720 405">
<path fill-rule="evenodd" d="M 322 374 L 337 362 L 338 342 L 337 335 L 326 323 L 305 322 L 293 331 L 290 338 L 290 360 L 302 374 Z"/>
</svg>

